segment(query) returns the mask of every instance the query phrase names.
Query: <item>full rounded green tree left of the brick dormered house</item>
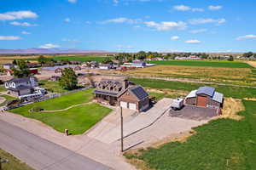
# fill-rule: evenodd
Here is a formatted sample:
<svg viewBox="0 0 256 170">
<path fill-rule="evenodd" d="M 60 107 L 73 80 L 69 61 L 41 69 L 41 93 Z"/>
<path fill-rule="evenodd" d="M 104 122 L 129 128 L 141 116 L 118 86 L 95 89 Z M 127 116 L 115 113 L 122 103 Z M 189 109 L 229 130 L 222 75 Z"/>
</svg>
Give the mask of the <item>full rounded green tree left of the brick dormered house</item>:
<svg viewBox="0 0 256 170">
<path fill-rule="evenodd" d="M 60 85 L 62 88 L 72 90 L 78 87 L 78 76 L 72 68 L 65 68 L 61 73 Z"/>
</svg>

